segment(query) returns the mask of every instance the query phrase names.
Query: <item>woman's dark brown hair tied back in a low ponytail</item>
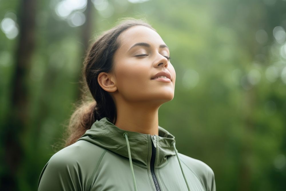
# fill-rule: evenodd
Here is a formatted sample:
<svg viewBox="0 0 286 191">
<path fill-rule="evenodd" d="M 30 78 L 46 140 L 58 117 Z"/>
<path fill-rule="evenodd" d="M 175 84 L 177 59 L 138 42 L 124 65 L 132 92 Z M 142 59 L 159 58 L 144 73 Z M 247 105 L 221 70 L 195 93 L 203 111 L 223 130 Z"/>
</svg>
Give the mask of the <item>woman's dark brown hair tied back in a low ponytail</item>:
<svg viewBox="0 0 286 191">
<path fill-rule="evenodd" d="M 114 71 L 113 55 L 120 45 L 118 36 L 136 25 L 143 25 L 156 31 L 141 19 L 123 18 L 113 28 L 101 34 L 90 46 L 83 63 L 82 75 L 84 87 L 89 90 L 93 99 L 86 102 L 83 96 L 82 103 L 76 106 L 65 132 L 67 138 L 64 147 L 75 143 L 96 120 L 108 117 L 115 124 L 117 116 L 115 103 L 110 94 L 98 84 L 97 78 L 100 72 Z"/>
</svg>

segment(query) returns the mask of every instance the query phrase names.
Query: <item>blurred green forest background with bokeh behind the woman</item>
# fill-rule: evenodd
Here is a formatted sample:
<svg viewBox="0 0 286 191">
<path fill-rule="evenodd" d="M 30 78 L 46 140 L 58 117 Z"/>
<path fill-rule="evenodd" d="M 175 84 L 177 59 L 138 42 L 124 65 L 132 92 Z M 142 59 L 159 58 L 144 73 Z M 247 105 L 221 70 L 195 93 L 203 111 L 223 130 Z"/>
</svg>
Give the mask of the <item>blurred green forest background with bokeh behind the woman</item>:
<svg viewBox="0 0 286 191">
<path fill-rule="evenodd" d="M 286 1 L 0 0 L 0 188 L 37 190 L 81 96 L 84 54 L 122 17 L 170 48 L 159 125 L 217 190 L 285 190 Z"/>
</svg>

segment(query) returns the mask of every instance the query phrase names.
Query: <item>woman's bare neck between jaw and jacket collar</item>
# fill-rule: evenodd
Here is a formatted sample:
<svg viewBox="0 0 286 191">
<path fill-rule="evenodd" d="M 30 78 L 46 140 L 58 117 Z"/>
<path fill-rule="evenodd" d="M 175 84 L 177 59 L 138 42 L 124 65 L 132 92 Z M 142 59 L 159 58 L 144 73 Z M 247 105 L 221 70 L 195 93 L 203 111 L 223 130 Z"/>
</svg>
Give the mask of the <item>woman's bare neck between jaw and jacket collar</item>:
<svg viewBox="0 0 286 191">
<path fill-rule="evenodd" d="M 126 131 L 158 135 L 158 105 L 145 103 L 124 103 L 116 105 L 115 126 Z"/>
</svg>

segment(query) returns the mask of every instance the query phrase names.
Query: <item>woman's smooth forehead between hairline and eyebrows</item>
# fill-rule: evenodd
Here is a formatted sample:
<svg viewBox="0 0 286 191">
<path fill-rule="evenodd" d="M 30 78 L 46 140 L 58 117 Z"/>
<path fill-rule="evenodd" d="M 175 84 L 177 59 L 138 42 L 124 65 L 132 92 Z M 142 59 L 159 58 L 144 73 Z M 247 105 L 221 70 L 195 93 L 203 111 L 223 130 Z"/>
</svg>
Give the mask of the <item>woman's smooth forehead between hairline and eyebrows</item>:
<svg viewBox="0 0 286 191">
<path fill-rule="evenodd" d="M 120 47 L 123 49 L 129 49 L 133 44 L 138 42 L 146 42 L 156 48 L 161 44 L 165 44 L 156 31 L 142 25 L 126 29 L 120 34 L 118 39 L 120 41 Z"/>
</svg>

